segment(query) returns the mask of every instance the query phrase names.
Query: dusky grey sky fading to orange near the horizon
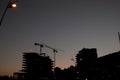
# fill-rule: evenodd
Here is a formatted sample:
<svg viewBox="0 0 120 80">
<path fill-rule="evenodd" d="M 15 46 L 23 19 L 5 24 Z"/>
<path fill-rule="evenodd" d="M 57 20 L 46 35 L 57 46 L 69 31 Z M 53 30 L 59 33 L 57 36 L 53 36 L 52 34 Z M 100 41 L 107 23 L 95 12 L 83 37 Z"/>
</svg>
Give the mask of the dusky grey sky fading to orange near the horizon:
<svg viewBox="0 0 120 80">
<path fill-rule="evenodd" d="M 8 0 L 0 0 L 0 19 Z M 22 69 L 24 52 L 37 52 L 34 43 L 55 49 L 56 66 L 75 65 L 82 48 L 97 48 L 98 56 L 120 50 L 119 0 L 19 0 L 7 10 L 0 26 L 0 75 Z M 43 52 L 53 60 L 52 50 Z"/>
</svg>

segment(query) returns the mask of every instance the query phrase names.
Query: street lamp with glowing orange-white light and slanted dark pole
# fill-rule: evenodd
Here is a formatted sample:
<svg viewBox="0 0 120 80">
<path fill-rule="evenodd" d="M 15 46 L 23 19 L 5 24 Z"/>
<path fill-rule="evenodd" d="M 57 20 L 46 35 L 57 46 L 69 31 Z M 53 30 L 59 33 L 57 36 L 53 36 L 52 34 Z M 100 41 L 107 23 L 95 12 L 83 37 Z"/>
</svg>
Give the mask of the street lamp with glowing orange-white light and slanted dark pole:
<svg viewBox="0 0 120 80">
<path fill-rule="evenodd" d="M 5 10 L 4 10 L 3 14 L 2 14 L 2 17 L 1 17 L 1 20 L 0 20 L 0 27 L 1 27 L 2 21 L 4 19 L 4 16 L 5 16 L 6 12 L 7 12 L 7 9 L 8 8 L 15 8 L 15 7 L 17 7 L 16 1 L 9 0 L 8 3 L 7 3 L 7 6 L 6 6 L 6 8 L 5 8 Z"/>
</svg>

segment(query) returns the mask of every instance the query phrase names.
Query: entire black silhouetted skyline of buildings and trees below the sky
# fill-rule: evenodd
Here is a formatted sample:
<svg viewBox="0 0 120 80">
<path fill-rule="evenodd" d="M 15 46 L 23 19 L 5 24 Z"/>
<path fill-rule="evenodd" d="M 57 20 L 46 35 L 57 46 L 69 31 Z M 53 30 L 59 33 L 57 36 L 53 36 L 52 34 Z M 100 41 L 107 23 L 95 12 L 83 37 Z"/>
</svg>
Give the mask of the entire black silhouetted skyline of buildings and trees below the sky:
<svg viewBox="0 0 120 80">
<path fill-rule="evenodd" d="M 14 73 L 16 80 L 119 80 L 120 51 L 97 56 L 96 48 L 83 48 L 76 54 L 76 65 L 61 69 L 53 67 L 49 56 L 24 53 L 20 72 Z"/>
</svg>

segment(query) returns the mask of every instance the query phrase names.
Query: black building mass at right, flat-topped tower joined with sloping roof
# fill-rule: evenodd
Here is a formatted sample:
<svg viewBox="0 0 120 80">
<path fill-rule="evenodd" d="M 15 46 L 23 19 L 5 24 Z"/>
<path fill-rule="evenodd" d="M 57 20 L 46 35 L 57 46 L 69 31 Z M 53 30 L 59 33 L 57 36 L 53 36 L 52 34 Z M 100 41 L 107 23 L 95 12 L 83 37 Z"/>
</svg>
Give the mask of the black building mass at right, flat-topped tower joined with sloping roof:
<svg viewBox="0 0 120 80">
<path fill-rule="evenodd" d="M 120 80 L 120 52 L 97 57 L 97 50 L 82 49 L 76 55 L 78 80 Z"/>
</svg>

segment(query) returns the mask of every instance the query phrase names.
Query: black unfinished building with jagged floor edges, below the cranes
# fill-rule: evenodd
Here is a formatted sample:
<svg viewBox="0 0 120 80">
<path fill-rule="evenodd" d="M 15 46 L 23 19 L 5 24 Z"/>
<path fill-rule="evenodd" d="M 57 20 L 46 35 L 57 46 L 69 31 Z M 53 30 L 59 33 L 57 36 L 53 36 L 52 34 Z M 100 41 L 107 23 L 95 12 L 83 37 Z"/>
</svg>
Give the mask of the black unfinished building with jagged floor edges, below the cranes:
<svg viewBox="0 0 120 80">
<path fill-rule="evenodd" d="M 22 77 L 22 80 L 52 80 L 52 65 L 53 62 L 49 56 L 34 52 L 23 53 L 22 73 L 17 75 Z"/>
</svg>

